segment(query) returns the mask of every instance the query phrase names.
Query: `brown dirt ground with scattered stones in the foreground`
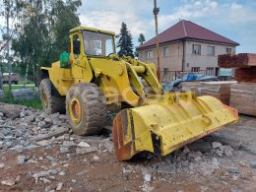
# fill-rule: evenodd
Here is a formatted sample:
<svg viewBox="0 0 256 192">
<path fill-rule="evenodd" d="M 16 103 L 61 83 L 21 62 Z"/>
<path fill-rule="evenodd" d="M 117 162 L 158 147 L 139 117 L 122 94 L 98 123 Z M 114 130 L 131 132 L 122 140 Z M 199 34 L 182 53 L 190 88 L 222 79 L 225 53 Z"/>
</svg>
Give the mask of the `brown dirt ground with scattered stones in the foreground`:
<svg viewBox="0 0 256 192">
<path fill-rule="evenodd" d="M 69 140 L 76 141 L 76 138 L 71 135 Z M 81 140 L 83 138 L 79 138 Z M 231 146 L 233 152 L 229 157 L 206 152 L 198 160 L 179 160 L 175 159 L 178 153 L 175 152 L 167 157 L 148 156 L 118 161 L 113 150 L 102 147 L 103 142 L 97 139 L 94 142 L 94 137 L 84 138 L 84 141 L 98 150 L 80 155 L 76 148 L 71 148 L 67 153 L 61 153 L 58 145 L 62 143 L 61 138 L 54 141 L 51 148 L 39 147 L 25 152 L 1 150 L 0 163 L 4 163 L 4 167 L 0 168 L 0 181 L 13 179 L 15 184 L 8 186 L 2 183 L 0 191 L 54 191 L 58 185 L 60 191 L 75 192 L 256 191 L 256 168 L 251 165 L 256 161 L 256 118 L 253 117 L 240 116 L 237 124 L 201 140 L 201 145 L 220 142 Z M 25 156 L 27 162 L 17 163 L 19 156 Z M 208 160 L 218 162 L 210 173 L 205 172 L 209 169 Z M 188 163 L 187 170 L 182 167 L 184 170 L 174 173 L 158 171 L 162 164 L 168 166 L 183 162 Z M 193 165 L 195 168 L 190 167 Z M 41 171 L 46 173 L 38 176 L 36 182 L 34 174 Z"/>
</svg>

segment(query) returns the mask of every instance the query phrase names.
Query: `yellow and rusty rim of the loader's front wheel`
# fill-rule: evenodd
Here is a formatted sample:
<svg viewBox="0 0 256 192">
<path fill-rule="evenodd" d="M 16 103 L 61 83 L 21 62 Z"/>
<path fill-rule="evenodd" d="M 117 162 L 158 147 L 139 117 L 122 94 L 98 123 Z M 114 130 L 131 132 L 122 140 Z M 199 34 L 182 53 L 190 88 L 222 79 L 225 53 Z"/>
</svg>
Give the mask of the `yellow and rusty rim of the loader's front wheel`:
<svg viewBox="0 0 256 192">
<path fill-rule="evenodd" d="M 70 114 L 71 120 L 74 123 L 77 123 L 77 124 L 80 123 L 82 118 L 82 107 L 77 97 L 72 98 L 70 101 L 69 114 Z"/>
</svg>

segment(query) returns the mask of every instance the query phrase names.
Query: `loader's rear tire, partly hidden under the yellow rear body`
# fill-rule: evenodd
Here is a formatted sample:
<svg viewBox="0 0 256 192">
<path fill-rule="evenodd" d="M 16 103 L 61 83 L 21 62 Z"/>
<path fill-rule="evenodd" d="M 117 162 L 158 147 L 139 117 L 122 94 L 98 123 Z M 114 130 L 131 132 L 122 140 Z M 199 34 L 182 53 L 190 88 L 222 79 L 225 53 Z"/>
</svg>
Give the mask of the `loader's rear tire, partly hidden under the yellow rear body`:
<svg viewBox="0 0 256 192">
<path fill-rule="evenodd" d="M 51 82 L 49 79 L 43 79 L 40 82 L 39 94 L 43 110 L 47 114 L 53 114 L 56 112 L 65 113 L 65 97 L 52 96 Z"/>
</svg>

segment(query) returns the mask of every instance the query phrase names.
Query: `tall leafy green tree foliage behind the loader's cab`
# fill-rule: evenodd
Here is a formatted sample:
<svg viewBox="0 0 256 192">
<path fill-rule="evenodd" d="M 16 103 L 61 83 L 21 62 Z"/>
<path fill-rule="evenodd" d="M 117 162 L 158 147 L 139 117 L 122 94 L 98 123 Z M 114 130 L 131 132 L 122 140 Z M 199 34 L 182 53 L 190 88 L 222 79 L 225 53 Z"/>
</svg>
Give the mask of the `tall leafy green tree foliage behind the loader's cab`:
<svg viewBox="0 0 256 192">
<path fill-rule="evenodd" d="M 34 77 L 41 66 L 50 66 L 68 50 L 69 31 L 80 25 L 77 9 L 81 5 L 81 0 L 23 0 L 12 40 L 21 74 Z"/>
</svg>

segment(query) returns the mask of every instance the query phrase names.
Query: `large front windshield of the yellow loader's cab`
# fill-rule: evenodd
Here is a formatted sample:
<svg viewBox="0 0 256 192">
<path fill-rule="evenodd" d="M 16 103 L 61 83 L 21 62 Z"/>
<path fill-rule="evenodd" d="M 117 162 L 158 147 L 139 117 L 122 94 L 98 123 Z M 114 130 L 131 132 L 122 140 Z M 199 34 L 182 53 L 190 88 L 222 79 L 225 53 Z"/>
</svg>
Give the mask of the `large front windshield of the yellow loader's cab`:
<svg viewBox="0 0 256 192">
<path fill-rule="evenodd" d="M 108 56 L 114 53 L 113 35 L 100 32 L 83 32 L 87 55 Z"/>
</svg>

